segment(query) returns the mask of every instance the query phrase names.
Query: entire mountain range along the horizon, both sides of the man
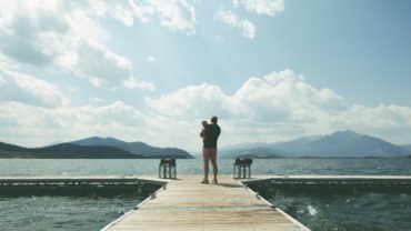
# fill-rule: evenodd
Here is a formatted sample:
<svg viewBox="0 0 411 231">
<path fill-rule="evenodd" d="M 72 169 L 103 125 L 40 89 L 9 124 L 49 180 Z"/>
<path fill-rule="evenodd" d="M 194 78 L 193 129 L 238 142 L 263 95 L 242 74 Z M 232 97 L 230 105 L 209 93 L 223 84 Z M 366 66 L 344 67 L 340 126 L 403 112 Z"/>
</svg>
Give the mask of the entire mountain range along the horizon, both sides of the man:
<svg viewBox="0 0 411 231">
<path fill-rule="evenodd" d="M 302 137 L 287 142 L 247 143 L 219 150 L 220 158 L 398 158 L 411 157 L 411 144 L 397 145 L 351 130 Z M 44 148 L 24 148 L 0 142 L 0 158 L 87 159 L 191 159 L 178 148 L 158 148 L 143 142 L 92 137 Z"/>
</svg>

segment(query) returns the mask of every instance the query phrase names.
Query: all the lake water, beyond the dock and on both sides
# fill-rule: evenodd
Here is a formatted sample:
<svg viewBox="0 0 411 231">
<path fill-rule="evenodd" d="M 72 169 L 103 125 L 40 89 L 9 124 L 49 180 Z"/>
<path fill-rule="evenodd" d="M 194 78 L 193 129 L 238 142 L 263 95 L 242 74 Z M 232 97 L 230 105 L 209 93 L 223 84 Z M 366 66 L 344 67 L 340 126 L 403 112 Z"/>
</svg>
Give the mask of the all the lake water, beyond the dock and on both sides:
<svg viewBox="0 0 411 231">
<path fill-rule="evenodd" d="M 233 160 L 219 160 L 232 174 Z M 159 160 L 0 160 L 0 175 L 156 175 Z M 179 174 L 201 174 L 201 160 L 178 160 Z M 254 160 L 253 174 L 411 174 L 411 159 Z M 200 180 L 200 179 L 199 179 Z M 99 230 L 132 209 L 149 192 L 118 194 L 0 194 L 0 230 Z M 411 192 L 289 190 L 262 193 L 312 230 L 409 230 Z"/>
</svg>

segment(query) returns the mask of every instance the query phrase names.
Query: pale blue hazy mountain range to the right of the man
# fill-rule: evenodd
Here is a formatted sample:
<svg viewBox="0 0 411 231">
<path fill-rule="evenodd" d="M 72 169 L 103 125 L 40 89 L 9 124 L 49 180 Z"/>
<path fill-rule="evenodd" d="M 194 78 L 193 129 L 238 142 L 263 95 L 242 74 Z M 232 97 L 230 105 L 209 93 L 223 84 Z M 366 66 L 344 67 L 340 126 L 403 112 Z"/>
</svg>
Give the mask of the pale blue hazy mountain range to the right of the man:
<svg viewBox="0 0 411 231">
<path fill-rule="evenodd" d="M 278 143 L 248 143 L 223 148 L 221 158 L 395 158 L 411 154 L 411 145 L 395 145 L 351 130 L 303 137 Z"/>
</svg>

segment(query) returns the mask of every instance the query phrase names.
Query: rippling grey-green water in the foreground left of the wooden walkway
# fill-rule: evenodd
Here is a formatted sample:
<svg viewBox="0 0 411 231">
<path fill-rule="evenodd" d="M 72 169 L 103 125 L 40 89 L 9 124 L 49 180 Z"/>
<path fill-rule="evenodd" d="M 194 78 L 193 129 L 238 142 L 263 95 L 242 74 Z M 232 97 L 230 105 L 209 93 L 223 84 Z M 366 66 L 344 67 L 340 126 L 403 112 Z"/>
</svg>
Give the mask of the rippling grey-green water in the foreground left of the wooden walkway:
<svg viewBox="0 0 411 231">
<path fill-rule="evenodd" d="M 0 230 L 100 230 L 141 197 L 0 197 Z"/>
</svg>

